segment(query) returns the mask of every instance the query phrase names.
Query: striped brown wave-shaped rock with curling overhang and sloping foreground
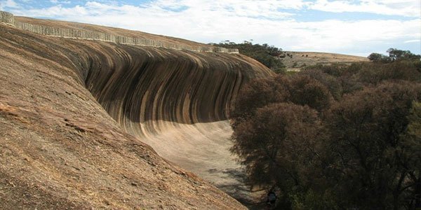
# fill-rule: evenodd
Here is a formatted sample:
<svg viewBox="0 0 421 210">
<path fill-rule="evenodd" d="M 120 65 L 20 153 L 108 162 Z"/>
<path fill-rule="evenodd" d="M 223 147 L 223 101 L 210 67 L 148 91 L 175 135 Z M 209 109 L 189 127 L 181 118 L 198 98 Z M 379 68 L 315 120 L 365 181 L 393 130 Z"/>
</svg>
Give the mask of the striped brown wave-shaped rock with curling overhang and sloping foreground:
<svg viewBox="0 0 421 210">
<path fill-rule="evenodd" d="M 58 38 L 0 24 L 0 209 L 242 209 L 203 179 L 238 184 L 229 176 L 239 168 L 228 151 L 229 107 L 243 83 L 271 74 L 240 54 Z"/>
</svg>

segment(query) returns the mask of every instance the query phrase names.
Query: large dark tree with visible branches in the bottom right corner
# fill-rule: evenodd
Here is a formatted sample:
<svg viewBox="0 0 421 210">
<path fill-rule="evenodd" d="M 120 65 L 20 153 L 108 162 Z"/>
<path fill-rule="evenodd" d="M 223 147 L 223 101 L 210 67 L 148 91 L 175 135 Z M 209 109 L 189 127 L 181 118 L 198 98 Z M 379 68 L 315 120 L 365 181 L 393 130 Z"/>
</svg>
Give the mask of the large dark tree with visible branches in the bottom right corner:
<svg viewBox="0 0 421 210">
<path fill-rule="evenodd" d="M 411 199 L 419 167 L 411 164 L 417 157 L 403 135 L 412 102 L 420 96 L 420 85 L 383 83 L 333 106 L 324 120 L 333 155 L 328 174 L 340 191 L 346 190 L 338 193 L 345 207 L 399 209 Z"/>
</svg>

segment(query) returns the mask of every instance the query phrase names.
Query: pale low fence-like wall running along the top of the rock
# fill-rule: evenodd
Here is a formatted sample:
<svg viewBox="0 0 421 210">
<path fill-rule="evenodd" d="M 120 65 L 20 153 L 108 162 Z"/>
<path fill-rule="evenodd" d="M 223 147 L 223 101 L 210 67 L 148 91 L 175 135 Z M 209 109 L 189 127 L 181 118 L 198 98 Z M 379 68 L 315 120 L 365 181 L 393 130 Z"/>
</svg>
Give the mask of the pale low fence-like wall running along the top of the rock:
<svg viewBox="0 0 421 210">
<path fill-rule="evenodd" d="M 97 32 L 97 31 L 48 27 L 44 25 L 33 25 L 27 22 L 15 21 L 15 18 L 12 13 L 7 13 L 4 11 L 0 11 L 0 22 L 4 22 L 8 25 L 14 25 L 18 29 L 31 31 L 36 34 L 42 34 L 46 36 L 55 36 L 55 37 L 62 37 L 62 38 L 79 38 L 79 39 L 95 40 L 95 41 L 107 41 L 107 42 L 119 43 L 119 44 L 124 44 L 124 45 L 152 46 L 152 47 L 169 48 L 169 49 L 175 49 L 175 50 L 190 50 L 190 51 L 195 51 L 195 52 L 239 53 L 238 49 L 206 47 L 206 46 L 193 47 L 190 45 L 178 45 L 178 44 L 166 43 L 164 41 L 157 41 L 157 40 L 152 40 L 152 39 L 147 39 L 147 38 L 117 36 L 117 35 Z"/>
</svg>

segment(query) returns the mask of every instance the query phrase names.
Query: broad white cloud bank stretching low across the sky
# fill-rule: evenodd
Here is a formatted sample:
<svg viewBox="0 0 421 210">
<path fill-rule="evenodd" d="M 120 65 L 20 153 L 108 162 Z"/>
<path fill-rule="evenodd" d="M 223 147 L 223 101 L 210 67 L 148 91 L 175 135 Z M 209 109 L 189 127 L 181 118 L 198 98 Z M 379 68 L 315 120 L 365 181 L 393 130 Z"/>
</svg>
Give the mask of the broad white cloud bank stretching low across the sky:
<svg viewBox="0 0 421 210">
<path fill-rule="evenodd" d="M 338 1 L 346 5 L 348 1 Z M 380 1 L 379 1 L 380 2 Z M 384 3 L 392 5 L 395 0 Z M 404 1 L 412 5 L 413 1 Z M 382 48 L 399 48 L 395 43 L 421 40 L 421 17 L 409 20 L 324 20 L 299 22 L 293 13 L 279 9 L 303 9 L 321 5 L 322 1 L 240 1 L 240 0 L 159 0 L 147 5 L 129 6 L 88 1 L 82 6 L 15 10 L 17 15 L 47 17 L 123 27 L 187 38 L 203 43 L 222 40 L 253 39 L 284 50 L 342 52 L 368 55 Z M 365 0 L 362 3 L 377 3 Z M 399 10 L 407 10 L 403 5 Z M 333 8 L 335 4 L 329 4 Z M 415 49 L 412 51 L 420 51 Z M 378 51 L 378 50 L 377 50 Z M 419 52 L 418 52 L 419 53 Z"/>
</svg>

